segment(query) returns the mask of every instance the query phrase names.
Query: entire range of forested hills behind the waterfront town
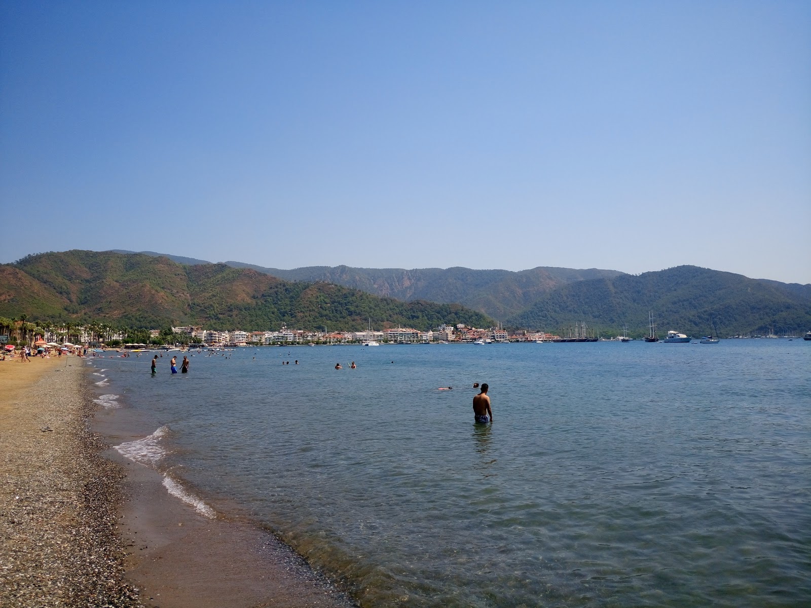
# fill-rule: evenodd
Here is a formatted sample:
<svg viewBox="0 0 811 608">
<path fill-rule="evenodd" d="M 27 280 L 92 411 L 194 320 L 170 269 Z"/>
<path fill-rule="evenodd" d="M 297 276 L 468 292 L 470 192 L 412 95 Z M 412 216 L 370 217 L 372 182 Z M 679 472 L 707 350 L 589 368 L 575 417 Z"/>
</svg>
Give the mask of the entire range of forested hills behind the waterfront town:
<svg viewBox="0 0 811 608">
<path fill-rule="evenodd" d="M 499 319 L 549 332 L 585 322 L 615 333 L 627 324 L 632 336 L 642 336 L 652 310 L 661 331 L 694 336 L 811 328 L 811 285 L 695 266 L 641 275 L 553 267 L 283 270 L 118 250 L 28 256 L 0 266 L 0 279 L 0 315 L 26 308 L 153 327 L 171 320 L 212 328 L 345 323 L 350 329 L 371 316 L 381 327 L 385 320 L 421 329 L 450 322 L 481 327 Z"/>
</svg>

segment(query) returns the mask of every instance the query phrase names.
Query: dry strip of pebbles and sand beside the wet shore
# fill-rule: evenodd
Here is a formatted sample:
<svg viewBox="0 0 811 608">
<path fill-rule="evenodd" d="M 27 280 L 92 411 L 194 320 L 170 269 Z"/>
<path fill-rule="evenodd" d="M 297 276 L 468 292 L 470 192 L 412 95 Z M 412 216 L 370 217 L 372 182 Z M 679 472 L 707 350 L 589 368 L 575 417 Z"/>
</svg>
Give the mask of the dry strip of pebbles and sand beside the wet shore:
<svg viewBox="0 0 811 608">
<path fill-rule="evenodd" d="M 124 473 L 89 430 L 84 374 L 81 359 L 60 361 L 5 404 L 0 606 L 141 606 L 116 528 Z"/>
</svg>

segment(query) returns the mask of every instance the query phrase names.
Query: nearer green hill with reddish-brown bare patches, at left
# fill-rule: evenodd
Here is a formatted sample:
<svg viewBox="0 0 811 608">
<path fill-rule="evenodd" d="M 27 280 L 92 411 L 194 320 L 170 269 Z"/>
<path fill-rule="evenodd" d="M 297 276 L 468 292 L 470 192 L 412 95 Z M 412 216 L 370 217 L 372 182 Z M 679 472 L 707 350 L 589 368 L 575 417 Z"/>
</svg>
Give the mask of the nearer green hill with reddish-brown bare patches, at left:
<svg viewBox="0 0 811 608">
<path fill-rule="evenodd" d="M 290 282 L 223 263 L 186 265 L 165 257 L 71 250 L 0 265 L 0 315 L 94 320 L 135 327 L 200 324 L 212 329 L 362 329 L 440 323 L 489 327 L 459 304 L 378 298 L 328 283 Z"/>
</svg>

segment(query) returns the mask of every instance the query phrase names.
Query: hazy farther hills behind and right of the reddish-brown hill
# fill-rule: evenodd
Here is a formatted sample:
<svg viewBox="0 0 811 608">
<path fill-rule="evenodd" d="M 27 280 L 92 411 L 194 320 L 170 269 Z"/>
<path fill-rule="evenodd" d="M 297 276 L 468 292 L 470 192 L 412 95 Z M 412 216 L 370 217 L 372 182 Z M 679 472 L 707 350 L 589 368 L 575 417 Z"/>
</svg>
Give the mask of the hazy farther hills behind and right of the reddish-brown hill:
<svg viewBox="0 0 811 608">
<path fill-rule="evenodd" d="M 165 257 L 180 263 L 207 263 Z M 677 329 L 698 335 L 712 331 L 712 323 L 726 335 L 811 329 L 811 284 L 750 279 L 695 266 L 633 276 L 598 268 L 538 267 L 512 272 L 311 266 L 283 270 L 235 261 L 225 264 L 284 280 L 323 281 L 405 301 L 456 302 L 516 328 L 554 332 L 585 321 L 606 332 L 620 331 L 628 324 L 630 332 L 640 335 L 647 311 L 654 310 L 659 329 L 665 332 Z"/>
</svg>

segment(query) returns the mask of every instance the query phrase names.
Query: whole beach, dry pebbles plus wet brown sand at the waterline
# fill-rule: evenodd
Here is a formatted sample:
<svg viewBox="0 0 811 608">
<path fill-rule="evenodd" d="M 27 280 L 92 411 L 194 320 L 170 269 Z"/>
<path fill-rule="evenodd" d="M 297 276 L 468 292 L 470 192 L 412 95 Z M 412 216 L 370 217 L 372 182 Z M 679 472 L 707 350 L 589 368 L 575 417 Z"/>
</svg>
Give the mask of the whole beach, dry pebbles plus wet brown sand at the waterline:
<svg viewBox="0 0 811 608">
<path fill-rule="evenodd" d="M 0 605 L 355 606 L 268 531 L 201 515 L 110 449 L 148 431 L 94 405 L 87 373 L 0 365 Z"/>
</svg>

